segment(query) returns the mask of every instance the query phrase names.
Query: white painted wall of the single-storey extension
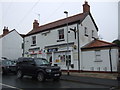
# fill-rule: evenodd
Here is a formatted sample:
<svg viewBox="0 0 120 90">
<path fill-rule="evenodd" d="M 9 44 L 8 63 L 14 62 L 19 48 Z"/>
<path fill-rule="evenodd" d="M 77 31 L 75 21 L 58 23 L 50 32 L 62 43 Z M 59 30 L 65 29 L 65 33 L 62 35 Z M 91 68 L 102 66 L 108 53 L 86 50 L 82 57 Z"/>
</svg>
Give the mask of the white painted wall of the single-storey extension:
<svg viewBox="0 0 120 90">
<path fill-rule="evenodd" d="M 111 50 L 111 59 L 112 59 L 112 70 L 117 71 L 117 62 L 118 62 L 118 49 Z M 82 70 L 83 71 L 111 71 L 110 69 L 110 57 L 109 49 L 101 49 L 101 60 L 102 62 L 95 62 L 95 51 L 82 51 Z M 92 70 L 94 67 L 94 70 Z"/>
</svg>

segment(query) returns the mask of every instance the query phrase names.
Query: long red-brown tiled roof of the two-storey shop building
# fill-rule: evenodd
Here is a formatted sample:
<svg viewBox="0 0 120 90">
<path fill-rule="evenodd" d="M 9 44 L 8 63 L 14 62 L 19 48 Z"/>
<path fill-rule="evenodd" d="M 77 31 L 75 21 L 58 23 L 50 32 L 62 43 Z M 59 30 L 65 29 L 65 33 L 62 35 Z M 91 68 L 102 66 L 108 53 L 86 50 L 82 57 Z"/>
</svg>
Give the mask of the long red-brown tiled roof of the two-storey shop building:
<svg viewBox="0 0 120 90">
<path fill-rule="evenodd" d="M 66 25 L 66 23 L 70 24 L 70 23 L 74 23 L 76 21 L 82 22 L 87 15 L 91 16 L 91 14 L 89 12 L 87 12 L 87 13 L 80 13 L 80 14 L 68 17 L 67 19 L 65 18 L 65 19 L 61 19 L 61 20 L 55 21 L 55 22 L 48 23 L 46 25 L 39 26 L 38 29 L 31 30 L 26 36 L 29 36 L 29 35 L 32 35 L 32 34 L 36 34 L 36 33 L 42 32 L 42 31 L 46 31 L 46 30 L 49 30 L 51 28 L 56 28 L 56 27 L 59 27 L 59 26 L 62 26 L 62 25 Z M 93 18 L 92 18 L 92 20 L 93 20 Z M 93 20 L 93 22 L 94 22 L 94 20 Z"/>
</svg>

